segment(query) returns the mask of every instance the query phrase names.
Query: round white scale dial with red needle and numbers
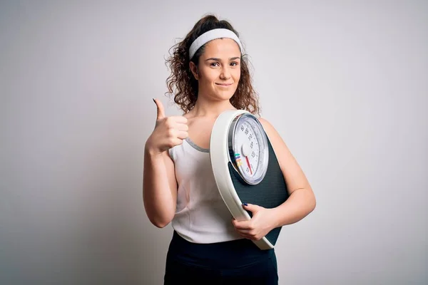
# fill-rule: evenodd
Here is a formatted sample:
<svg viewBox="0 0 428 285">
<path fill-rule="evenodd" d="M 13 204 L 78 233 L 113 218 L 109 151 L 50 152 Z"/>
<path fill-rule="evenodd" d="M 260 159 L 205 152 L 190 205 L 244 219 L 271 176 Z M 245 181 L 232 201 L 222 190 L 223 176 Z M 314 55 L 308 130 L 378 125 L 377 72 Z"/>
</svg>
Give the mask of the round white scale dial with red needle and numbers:
<svg viewBox="0 0 428 285">
<path fill-rule="evenodd" d="M 249 185 L 257 185 L 266 175 L 269 152 L 263 126 L 254 115 L 233 120 L 229 130 L 230 160 Z"/>
</svg>

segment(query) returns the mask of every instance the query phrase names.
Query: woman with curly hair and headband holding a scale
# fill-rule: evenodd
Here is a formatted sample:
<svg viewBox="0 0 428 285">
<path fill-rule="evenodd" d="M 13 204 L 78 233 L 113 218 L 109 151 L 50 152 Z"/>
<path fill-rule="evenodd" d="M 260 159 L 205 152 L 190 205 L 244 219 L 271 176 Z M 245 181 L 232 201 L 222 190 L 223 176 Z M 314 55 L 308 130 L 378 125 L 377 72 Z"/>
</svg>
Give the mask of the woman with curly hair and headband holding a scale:
<svg viewBox="0 0 428 285">
<path fill-rule="evenodd" d="M 215 16 L 200 19 L 167 61 L 167 83 L 183 116 L 158 108 L 146 141 L 143 198 L 156 227 L 172 223 L 165 284 L 277 284 L 275 249 L 251 239 L 298 222 L 315 208 L 309 182 L 275 128 L 259 118 L 275 150 L 290 197 L 279 207 L 243 204 L 249 221 L 232 219 L 210 169 L 209 142 L 215 119 L 225 110 L 258 115 L 258 98 L 238 33 Z M 239 282 L 239 283 L 237 283 Z"/>
</svg>

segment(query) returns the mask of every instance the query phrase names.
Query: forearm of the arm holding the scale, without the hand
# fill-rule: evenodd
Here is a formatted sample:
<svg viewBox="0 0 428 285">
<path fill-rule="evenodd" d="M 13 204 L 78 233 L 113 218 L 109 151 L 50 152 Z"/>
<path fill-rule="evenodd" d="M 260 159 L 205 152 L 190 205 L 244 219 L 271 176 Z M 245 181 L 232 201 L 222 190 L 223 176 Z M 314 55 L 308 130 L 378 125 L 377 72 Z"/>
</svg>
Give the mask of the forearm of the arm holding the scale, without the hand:
<svg viewBox="0 0 428 285">
<path fill-rule="evenodd" d="M 306 217 L 315 209 L 315 196 L 312 190 L 301 188 L 293 191 L 288 199 L 280 206 L 272 209 L 275 214 L 274 227 L 294 224 Z"/>
</svg>

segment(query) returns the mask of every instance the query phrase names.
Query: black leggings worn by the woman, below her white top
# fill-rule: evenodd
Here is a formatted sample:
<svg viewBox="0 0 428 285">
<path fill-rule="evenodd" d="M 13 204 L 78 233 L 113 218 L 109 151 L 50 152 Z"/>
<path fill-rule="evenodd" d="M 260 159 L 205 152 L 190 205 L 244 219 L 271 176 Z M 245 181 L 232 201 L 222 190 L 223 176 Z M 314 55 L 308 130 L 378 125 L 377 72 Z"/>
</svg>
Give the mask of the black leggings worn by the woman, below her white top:
<svg viewBox="0 0 428 285">
<path fill-rule="evenodd" d="M 164 276 L 164 285 L 171 284 L 277 285 L 275 251 L 249 239 L 195 244 L 174 232 Z"/>
</svg>

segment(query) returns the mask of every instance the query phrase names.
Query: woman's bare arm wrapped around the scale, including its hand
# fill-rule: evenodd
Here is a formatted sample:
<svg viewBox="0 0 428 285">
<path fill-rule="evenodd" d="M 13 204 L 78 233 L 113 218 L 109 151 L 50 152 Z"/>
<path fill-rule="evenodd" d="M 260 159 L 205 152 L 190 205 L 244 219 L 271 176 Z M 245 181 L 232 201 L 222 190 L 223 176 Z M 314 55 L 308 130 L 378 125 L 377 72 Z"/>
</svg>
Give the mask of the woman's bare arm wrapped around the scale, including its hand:
<svg viewBox="0 0 428 285">
<path fill-rule="evenodd" d="M 315 209 L 316 204 L 312 187 L 284 140 L 267 120 L 259 120 L 275 151 L 290 196 L 280 206 L 272 209 L 255 204 L 243 205 L 244 209 L 253 212 L 253 217 L 248 221 L 233 219 L 232 223 L 243 237 L 257 240 L 276 227 L 299 222 Z"/>
</svg>

